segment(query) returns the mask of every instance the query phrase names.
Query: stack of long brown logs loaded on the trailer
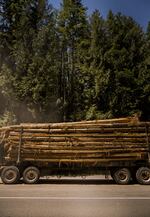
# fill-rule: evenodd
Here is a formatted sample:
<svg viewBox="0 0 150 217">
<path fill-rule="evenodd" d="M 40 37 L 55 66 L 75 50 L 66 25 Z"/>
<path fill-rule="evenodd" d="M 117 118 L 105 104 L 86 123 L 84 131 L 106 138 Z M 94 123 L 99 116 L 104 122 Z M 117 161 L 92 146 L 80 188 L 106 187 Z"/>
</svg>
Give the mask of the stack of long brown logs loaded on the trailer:
<svg viewBox="0 0 150 217">
<path fill-rule="evenodd" d="M 21 124 L 0 129 L 5 160 L 107 162 L 149 152 L 150 122 L 135 118 Z"/>
</svg>

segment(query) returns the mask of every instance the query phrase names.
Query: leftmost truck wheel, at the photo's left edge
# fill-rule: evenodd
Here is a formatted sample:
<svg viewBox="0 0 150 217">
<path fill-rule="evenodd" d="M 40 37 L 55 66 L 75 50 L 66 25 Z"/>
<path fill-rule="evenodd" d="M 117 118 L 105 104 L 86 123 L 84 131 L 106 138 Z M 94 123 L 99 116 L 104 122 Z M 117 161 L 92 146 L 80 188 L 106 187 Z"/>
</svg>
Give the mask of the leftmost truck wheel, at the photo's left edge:
<svg viewBox="0 0 150 217">
<path fill-rule="evenodd" d="M 16 166 L 6 166 L 1 172 L 2 182 L 5 184 L 16 184 L 20 179 L 19 169 Z"/>
</svg>

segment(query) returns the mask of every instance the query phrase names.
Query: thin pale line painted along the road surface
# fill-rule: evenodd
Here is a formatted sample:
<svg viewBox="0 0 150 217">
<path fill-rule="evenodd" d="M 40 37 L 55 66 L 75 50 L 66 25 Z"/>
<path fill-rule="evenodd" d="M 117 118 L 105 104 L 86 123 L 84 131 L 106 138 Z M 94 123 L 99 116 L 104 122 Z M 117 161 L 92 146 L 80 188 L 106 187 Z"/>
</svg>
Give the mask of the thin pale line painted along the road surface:
<svg viewBox="0 0 150 217">
<path fill-rule="evenodd" d="M 150 200 L 150 197 L 0 197 L 9 200 Z"/>
</svg>

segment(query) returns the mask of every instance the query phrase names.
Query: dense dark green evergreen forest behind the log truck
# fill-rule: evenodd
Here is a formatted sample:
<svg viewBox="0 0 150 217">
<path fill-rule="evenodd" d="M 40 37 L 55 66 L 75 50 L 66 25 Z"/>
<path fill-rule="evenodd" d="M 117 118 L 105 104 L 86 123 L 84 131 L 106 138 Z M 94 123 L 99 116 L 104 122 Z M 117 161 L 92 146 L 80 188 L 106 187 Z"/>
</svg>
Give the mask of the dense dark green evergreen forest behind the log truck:
<svg viewBox="0 0 150 217">
<path fill-rule="evenodd" d="M 150 120 L 150 22 L 81 0 L 0 0 L 0 126 Z"/>
</svg>

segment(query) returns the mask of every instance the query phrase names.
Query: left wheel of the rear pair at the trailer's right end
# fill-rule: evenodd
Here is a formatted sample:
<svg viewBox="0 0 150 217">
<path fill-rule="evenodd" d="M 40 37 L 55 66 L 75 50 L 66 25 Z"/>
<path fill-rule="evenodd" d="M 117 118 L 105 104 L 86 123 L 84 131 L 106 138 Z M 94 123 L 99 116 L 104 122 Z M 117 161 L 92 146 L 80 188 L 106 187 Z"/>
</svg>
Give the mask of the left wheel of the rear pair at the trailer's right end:
<svg viewBox="0 0 150 217">
<path fill-rule="evenodd" d="M 131 172 L 127 168 L 116 170 L 112 176 L 115 182 L 120 185 L 127 185 L 131 181 Z"/>
</svg>

